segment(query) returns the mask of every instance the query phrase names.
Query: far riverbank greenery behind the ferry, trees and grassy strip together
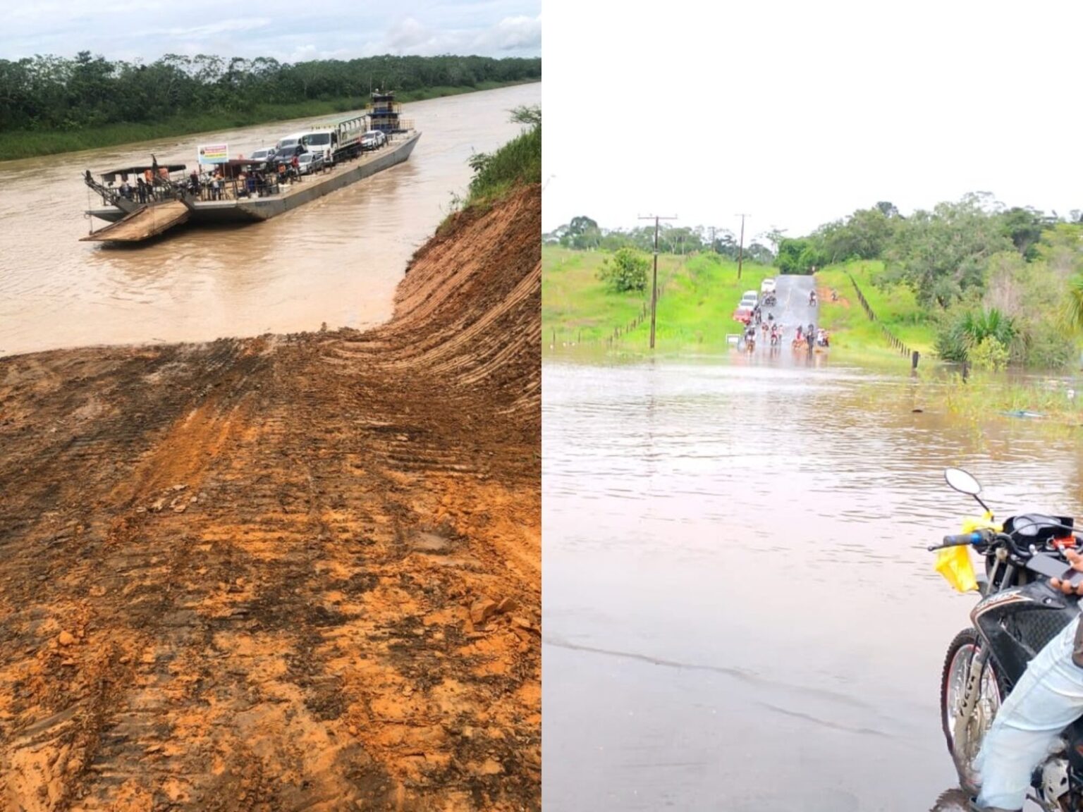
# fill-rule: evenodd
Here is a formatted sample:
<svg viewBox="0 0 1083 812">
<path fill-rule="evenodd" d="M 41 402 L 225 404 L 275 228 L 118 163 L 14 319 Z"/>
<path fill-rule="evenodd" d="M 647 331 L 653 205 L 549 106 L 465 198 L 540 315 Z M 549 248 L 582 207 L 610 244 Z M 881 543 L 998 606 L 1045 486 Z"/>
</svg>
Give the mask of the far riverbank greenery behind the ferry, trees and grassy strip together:
<svg viewBox="0 0 1083 812">
<path fill-rule="evenodd" d="M 539 58 L 374 56 L 282 64 L 168 54 L 151 64 L 0 60 L 4 159 L 360 109 L 374 89 L 400 101 L 540 81 Z"/>
</svg>

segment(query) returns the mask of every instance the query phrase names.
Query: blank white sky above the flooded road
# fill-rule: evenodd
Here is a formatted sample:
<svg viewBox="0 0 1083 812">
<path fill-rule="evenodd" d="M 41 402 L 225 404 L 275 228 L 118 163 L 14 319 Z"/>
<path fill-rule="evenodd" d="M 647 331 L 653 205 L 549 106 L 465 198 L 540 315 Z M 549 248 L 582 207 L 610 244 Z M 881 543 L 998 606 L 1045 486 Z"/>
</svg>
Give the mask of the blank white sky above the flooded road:
<svg viewBox="0 0 1083 812">
<path fill-rule="evenodd" d="M 543 228 L 797 236 L 877 200 L 1083 209 L 1083 3 L 546 5 Z"/>
</svg>

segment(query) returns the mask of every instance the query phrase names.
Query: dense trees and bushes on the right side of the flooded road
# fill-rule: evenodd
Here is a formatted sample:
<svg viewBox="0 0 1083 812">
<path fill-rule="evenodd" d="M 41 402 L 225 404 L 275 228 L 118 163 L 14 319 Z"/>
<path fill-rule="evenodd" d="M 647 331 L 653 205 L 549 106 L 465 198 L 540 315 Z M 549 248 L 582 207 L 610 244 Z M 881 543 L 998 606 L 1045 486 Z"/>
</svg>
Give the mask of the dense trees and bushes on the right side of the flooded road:
<svg viewBox="0 0 1083 812">
<path fill-rule="evenodd" d="M 1008 208 L 988 194 L 903 217 L 890 202 L 779 239 L 784 273 L 879 260 L 874 284 L 910 288 L 947 361 L 1057 368 L 1083 327 L 1083 212 Z"/>
</svg>

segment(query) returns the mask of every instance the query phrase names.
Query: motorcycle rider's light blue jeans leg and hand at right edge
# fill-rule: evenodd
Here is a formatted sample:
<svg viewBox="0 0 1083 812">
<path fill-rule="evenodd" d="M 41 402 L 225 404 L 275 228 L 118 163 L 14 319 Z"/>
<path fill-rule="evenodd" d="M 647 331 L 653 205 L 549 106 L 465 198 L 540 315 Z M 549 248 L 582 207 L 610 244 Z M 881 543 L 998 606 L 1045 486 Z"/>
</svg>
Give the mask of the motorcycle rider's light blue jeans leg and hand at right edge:
<svg viewBox="0 0 1083 812">
<path fill-rule="evenodd" d="M 1083 573 L 1083 555 L 1065 550 L 1072 568 Z M 1052 579 L 1054 589 L 1083 595 Z M 1027 666 L 1015 690 L 993 719 L 974 761 L 981 791 L 975 802 L 983 812 L 1018 812 L 1027 800 L 1030 777 L 1049 746 L 1083 716 L 1083 640 L 1077 618 L 1051 640 Z"/>
</svg>

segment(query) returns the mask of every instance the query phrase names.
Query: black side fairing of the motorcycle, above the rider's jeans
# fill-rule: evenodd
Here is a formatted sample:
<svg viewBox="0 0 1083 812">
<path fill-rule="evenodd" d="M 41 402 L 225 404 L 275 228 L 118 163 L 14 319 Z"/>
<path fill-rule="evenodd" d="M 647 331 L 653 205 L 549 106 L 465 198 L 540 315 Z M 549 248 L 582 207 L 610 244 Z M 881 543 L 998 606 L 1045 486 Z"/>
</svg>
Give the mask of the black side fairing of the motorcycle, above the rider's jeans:
<svg viewBox="0 0 1083 812">
<path fill-rule="evenodd" d="M 1027 664 L 1080 615 L 1078 600 L 1042 578 L 981 600 L 970 613 L 1001 675 L 1014 685 Z"/>
</svg>

